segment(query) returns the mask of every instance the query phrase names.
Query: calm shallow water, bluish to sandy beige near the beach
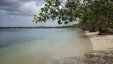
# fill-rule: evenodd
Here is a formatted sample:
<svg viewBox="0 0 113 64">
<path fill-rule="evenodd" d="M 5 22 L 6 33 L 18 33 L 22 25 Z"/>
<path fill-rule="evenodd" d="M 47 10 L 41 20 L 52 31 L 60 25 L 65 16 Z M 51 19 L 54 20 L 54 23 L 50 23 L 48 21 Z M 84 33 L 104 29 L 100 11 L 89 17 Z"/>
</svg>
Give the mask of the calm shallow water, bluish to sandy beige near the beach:
<svg viewBox="0 0 113 64">
<path fill-rule="evenodd" d="M 76 29 L 0 29 L 0 64 L 47 64 L 83 56 L 90 40 Z"/>
</svg>

